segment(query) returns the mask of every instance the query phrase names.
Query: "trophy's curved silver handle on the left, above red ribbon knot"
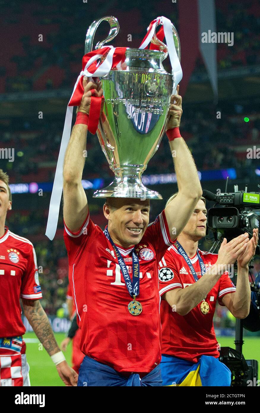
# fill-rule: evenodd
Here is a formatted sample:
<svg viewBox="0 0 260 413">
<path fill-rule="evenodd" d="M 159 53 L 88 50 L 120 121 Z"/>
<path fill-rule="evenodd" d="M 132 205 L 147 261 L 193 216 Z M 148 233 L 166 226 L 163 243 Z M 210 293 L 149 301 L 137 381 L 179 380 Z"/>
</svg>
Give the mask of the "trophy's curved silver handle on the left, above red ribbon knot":
<svg viewBox="0 0 260 413">
<path fill-rule="evenodd" d="M 98 42 L 96 44 L 95 49 L 100 49 L 104 45 L 104 43 L 107 43 L 110 40 L 112 40 L 114 37 L 116 37 L 116 35 L 119 31 L 119 23 L 118 23 L 118 20 L 116 19 L 116 17 L 106 16 L 106 17 L 102 17 L 102 19 L 93 21 L 93 23 L 90 24 L 90 26 L 88 28 L 88 31 L 87 31 L 87 34 L 86 34 L 85 54 L 88 53 L 88 52 L 92 52 L 94 36 L 95 36 L 96 30 L 97 30 L 99 24 L 102 21 L 108 21 L 109 22 L 110 31 L 109 31 L 109 35 L 104 40 L 101 40 L 100 42 Z"/>
</svg>

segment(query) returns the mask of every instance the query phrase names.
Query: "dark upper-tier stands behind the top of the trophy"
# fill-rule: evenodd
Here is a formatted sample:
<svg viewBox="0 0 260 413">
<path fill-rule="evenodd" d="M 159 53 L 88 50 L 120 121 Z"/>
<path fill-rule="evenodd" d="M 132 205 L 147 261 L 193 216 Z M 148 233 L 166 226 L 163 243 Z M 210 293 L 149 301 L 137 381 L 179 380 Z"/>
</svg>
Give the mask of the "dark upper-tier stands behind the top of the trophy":
<svg viewBox="0 0 260 413">
<path fill-rule="evenodd" d="M 18 0 L 7 4 L 1 1 L 0 17 L 2 38 L 14 33 L 16 41 L 8 44 L 0 64 L 0 93 L 53 88 L 71 88 L 80 70 L 83 55 L 83 40 L 87 24 L 99 16 L 115 14 L 119 23 L 135 21 L 135 24 L 120 31 L 116 37 L 117 46 L 125 45 L 128 33 L 132 34 L 131 47 L 139 47 L 144 35 L 142 21 L 153 20 L 156 16 L 155 4 L 147 7 L 138 0 L 121 2 L 113 10 L 97 1 L 97 9 L 88 9 L 87 16 L 82 12 L 82 4 L 71 5 L 55 1 Z M 178 27 L 178 10 L 171 3 L 163 1 L 161 9 Z M 8 8 L 8 13 L 5 13 Z M 10 12 L 10 8 L 12 11 Z M 257 0 L 236 2 L 223 0 L 216 4 L 217 32 L 234 32 L 234 46 L 222 43 L 217 45 L 218 69 L 236 68 L 258 64 L 260 59 L 259 5 Z M 23 22 L 26 21 L 26 25 Z M 37 23 L 36 23 L 37 21 Z M 74 24 L 74 22 L 77 24 Z M 7 30 L 12 27 L 12 30 Z M 106 30 L 106 29 L 105 29 Z M 124 31 L 127 30 L 127 31 Z M 39 33 L 43 39 L 39 41 Z M 99 32 L 100 33 L 100 32 Z M 106 31 L 104 31 L 105 34 Z M 197 69 L 204 70 L 202 59 L 198 59 Z M 15 81 L 14 81 L 15 79 Z"/>
</svg>

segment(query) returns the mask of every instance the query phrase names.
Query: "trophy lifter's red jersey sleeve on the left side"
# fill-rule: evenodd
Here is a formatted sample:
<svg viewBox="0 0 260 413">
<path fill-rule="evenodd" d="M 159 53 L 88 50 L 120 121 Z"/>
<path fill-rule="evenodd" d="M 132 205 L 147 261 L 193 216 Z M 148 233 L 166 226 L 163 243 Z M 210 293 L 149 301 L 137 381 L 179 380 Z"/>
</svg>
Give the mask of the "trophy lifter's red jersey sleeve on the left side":
<svg viewBox="0 0 260 413">
<path fill-rule="evenodd" d="M 90 211 L 80 229 L 73 233 L 64 222 L 64 242 L 68 252 L 69 265 L 72 265 L 77 259 L 80 248 L 87 243 L 90 238 L 95 237 L 96 226 L 90 219 Z"/>
</svg>

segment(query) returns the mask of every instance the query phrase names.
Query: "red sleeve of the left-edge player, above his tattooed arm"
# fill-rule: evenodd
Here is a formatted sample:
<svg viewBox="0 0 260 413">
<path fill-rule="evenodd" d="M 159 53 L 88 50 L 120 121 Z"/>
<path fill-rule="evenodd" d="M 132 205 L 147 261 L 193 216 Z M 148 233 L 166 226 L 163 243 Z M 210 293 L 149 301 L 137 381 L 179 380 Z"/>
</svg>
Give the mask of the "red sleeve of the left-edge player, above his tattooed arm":
<svg viewBox="0 0 260 413">
<path fill-rule="evenodd" d="M 39 282 L 38 266 L 33 244 L 28 244 L 27 268 L 21 278 L 21 297 L 37 300 L 43 297 Z"/>
</svg>

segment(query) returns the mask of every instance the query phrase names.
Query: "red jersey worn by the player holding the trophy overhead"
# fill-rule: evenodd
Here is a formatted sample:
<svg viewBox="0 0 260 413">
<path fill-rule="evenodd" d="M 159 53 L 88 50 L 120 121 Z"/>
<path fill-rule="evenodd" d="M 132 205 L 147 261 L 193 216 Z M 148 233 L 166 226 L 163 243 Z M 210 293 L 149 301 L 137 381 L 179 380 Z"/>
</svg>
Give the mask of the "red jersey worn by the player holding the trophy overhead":
<svg viewBox="0 0 260 413">
<path fill-rule="evenodd" d="M 80 350 L 118 372 L 149 373 L 161 361 L 158 263 L 172 244 L 164 211 L 135 246 L 140 266 L 137 300 L 143 308 L 138 316 L 128 311 L 132 297 L 113 247 L 89 214 L 77 233 L 65 225 L 64 240 Z M 132 278 L 132 248 L 119 250 Z"/>
</svg>

